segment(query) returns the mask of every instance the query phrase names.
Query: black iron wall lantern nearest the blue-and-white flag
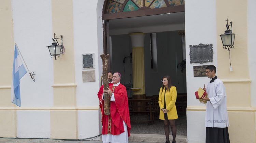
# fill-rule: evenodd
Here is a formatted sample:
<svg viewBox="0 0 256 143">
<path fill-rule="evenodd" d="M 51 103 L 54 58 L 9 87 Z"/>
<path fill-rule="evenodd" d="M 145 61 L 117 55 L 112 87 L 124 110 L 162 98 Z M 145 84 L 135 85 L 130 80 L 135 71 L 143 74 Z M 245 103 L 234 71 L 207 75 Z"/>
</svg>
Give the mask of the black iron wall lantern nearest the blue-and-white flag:
<svg viewBox="0 0 256 143">
<path fill-rule="evenodd" d="M 60 35 L 61 38 L 55 38 L 55 36 L 56 36 L 56 34 L 54 33 L 53 43 L 52 43 L 52 45 L 47 46 L 47 47 L 48 47 L 49 52 L 51 54 L 51 58 L 54 57 L 55 60 L 56 60 L 57 56 L 60 57 L 60 54 L 63 54 L 65 52 L 65 48 L 64 48 L 63 43 L 62 43 L 63 36 Z M 57 39 L 61 39 L 61 45 L 59 45 Z"/>
</svg>

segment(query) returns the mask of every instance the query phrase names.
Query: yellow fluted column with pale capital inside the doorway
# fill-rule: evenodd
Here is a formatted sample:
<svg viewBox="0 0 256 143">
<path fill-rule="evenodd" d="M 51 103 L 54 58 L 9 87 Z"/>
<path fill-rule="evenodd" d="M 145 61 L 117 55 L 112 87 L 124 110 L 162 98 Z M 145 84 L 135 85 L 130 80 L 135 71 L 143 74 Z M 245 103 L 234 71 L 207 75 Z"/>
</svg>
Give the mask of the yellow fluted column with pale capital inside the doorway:
<svg viewBox="0 0 256 143">
<path fill-rule="evenodd" d="M 145 33 L 130 33 L 132 45 L 133 97 L 145 96 L 144 37 Z M 136 97 L 135 97 L 136 98 Z"/>
</svg>

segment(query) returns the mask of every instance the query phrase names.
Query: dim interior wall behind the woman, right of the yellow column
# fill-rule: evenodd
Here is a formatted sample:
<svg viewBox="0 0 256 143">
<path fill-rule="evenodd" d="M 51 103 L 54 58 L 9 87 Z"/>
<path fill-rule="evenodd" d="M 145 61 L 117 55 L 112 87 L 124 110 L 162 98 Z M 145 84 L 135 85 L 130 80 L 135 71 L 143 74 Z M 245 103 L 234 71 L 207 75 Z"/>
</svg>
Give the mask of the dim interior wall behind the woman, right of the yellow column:
<svg viewBox="0 0 256 143">
<path fill-rule="evenodd" d="M 148 35 L 147 38 L 149 39 Z M 178 66 L 182 61 L 181 36 L 178 35 L 177 31 L 159 32 L 156 33 L 156 44 L 158 64 L 157 73 L 151 69 L 150 50 L 147 50 L 147 53 L 145 52 L 145 55 L 147 55 L 147 57 L 145 56 L 145 61 L 147 59 L 147 65 L 145 65 L 145 68 L 148 69 L 148 73 L 145 72 L 147 94 L 151 95 L 150 93 L 156 93 L 157 91 L 154 95 L 158 95 L 160 88 L 155 87 L 154 84 L 152 84 L 151 78 L 155 78 L 153 81 L 157 82 L 161 87 L 162 77 L 166 75 L 171 77 L 171 82 L 173 86 L 176 86 L 177 93 L 186 93 L 186 70 L 181 72 L 181 67 Z M 150 49 L 149 43 L 147 43 L 147 47 Z"/>
</svg>

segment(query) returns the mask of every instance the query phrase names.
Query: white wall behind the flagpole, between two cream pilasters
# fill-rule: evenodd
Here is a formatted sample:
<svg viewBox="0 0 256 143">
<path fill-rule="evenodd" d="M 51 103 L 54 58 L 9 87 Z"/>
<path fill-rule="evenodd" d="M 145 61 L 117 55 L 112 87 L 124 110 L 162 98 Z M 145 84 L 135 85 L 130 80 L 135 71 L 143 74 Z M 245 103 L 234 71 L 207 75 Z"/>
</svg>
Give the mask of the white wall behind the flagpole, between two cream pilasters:
<svg viewBox="0 0 256 143">
<path fill-rule="evenodd" d="M 20 81 L 21 107 L 53 106 L 53 59 L 51 0 L 13 0 L 14 42 L 30 70 Z M 10 47 L 13 48 L 13 47 Z M 50 138 L 49 111 L 17 111 L 17 137 Z"/>
</svg>

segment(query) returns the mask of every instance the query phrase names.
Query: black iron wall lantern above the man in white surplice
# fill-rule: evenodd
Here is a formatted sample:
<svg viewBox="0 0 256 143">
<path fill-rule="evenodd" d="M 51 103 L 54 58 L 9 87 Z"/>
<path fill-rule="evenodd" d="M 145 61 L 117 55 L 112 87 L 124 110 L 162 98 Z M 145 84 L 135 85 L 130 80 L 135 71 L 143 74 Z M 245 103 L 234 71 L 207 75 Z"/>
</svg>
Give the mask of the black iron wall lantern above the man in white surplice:
<svg viewBox="0 0 256 143">
<path fill-rule="evenodd" d="M 230 21 L 230 25 L 228 25 L 228 19 L 226 20 L 227 24 L 226 24 L 226 28 L 227 30 L 224 31 L 224 34 L 221 34 L 221 41 L 223 44 L 223 48 L 224 49 L 228 49 L 228 51 L 230 51 L 230 49 L 234 48 L 234 38 L 236 36 L 235 33 L 232 33 L 232 21 Z M 231 27 L 231 30 L 229 29 L 229 26 Z"/>
</svg>

